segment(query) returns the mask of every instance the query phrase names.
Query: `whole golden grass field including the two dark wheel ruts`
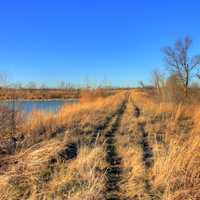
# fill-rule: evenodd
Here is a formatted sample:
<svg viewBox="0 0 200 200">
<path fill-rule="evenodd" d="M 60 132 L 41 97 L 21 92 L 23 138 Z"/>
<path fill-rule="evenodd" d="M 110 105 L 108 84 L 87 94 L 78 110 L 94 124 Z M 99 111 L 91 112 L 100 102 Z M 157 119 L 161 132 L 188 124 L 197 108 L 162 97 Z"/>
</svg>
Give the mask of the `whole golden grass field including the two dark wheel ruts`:
<svg viewBox="0 0 200 200">
<path fill-rule="evenodd" d="M 199 116 L 144 90 L 33 112 L 1 140 L 0 200 L 198 200 Z"/>
</svg>

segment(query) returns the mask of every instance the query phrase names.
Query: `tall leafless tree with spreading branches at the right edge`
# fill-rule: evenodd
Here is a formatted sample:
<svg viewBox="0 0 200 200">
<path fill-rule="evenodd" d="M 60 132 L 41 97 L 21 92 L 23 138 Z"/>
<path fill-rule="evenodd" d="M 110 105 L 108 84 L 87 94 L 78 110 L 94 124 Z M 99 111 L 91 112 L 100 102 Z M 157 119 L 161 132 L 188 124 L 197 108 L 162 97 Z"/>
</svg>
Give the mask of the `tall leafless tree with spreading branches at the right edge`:
<svg viewBox="0 0 200 200">
<path fill-rule="evenodd" d="M 185 95 L 188 95 L 190 81 L 194 76 L 195 69 L 200 65 L 200 55 L 189 57 L 188 51 L 191 47 L 192 39 L 186 36 L 183 40 L 177 40 L 174 47 L 165 47 L 165 61 L 168 69 L 173 74 L 177 74 Z"/>
</svg>

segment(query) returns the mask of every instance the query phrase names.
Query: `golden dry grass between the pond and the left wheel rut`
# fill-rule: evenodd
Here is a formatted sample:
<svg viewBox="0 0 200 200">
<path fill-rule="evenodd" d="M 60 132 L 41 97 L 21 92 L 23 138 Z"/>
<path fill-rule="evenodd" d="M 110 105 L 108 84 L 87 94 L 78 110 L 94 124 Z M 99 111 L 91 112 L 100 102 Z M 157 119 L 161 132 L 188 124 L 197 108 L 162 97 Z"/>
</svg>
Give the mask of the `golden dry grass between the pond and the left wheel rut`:
<svg viewBox="0 0 200 200">
<path fill-rule="evenodd" d="M 16 154 L 0 158 L 0 199 L 103 199 L 105 152 L 92 133 L 118 111 L 124 94 L 63 107 L 57 114 L 33 112 L 20 127 L 25 139 Z M 50 137 L 57 128 L 61 133 Z M 67 144 L 78 155 L 63 160 Z"/>
</svg>

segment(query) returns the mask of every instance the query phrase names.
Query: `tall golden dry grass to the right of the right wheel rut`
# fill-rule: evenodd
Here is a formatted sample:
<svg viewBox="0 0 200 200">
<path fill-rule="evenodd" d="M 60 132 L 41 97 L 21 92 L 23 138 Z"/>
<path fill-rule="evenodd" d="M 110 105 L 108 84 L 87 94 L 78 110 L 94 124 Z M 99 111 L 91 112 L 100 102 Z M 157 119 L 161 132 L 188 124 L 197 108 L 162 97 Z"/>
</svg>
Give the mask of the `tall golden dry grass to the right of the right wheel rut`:
<svg viewBox="0 0 200 200">
<path fill-rule="evenodd" d="M 200 199 L 199 104 L 158 103 L 140 91 L 133 96 L 146 120 L 155 159 L 150 180 L 160 199 Z"/>
</svg>

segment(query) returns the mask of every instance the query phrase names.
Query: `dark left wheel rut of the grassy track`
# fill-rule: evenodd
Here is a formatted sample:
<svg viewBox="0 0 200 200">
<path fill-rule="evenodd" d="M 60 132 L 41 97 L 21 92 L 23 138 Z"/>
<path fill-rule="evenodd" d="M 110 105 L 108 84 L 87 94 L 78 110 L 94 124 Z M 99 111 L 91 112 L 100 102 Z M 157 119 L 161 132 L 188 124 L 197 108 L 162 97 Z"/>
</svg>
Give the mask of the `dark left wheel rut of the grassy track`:
<svg viewBox="0 0 200 200">
<path fill-rule="evenodd" d="M 117 153 L 115 135 L 117 134 L 118 128 L 120 126 L 120 121 L 125 111 L 126 104 L 127 102 L 125 102 L 121 109 L 118 111 L 117 116 L 105 132 L 106 162 L 108 163 L 105 186 L 106 200 L 120 200 L 119 182 L 121 180 L 122 173 L 122 158 Z"/>
</svg>

